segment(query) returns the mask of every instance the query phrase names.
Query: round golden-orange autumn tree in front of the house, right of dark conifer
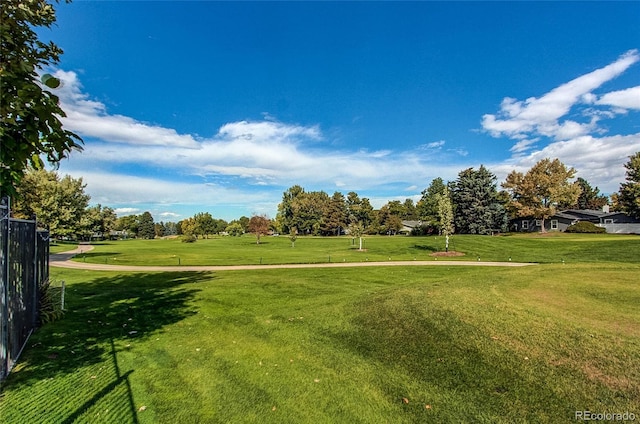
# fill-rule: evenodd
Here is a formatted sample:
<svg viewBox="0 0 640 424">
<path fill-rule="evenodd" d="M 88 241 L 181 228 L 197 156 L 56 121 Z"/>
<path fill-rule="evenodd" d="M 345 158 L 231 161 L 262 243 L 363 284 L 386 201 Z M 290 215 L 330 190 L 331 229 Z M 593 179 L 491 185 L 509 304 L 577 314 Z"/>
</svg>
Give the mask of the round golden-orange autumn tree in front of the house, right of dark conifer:
<svg viewBox="0 0 640 424">
<path fill-rule="evenodd" d="M 558 159 L 543 159 L 524 175 L 513 171 L 502 183 L 511 197 L 508 207 L 516 216 L 540 219 L 545 232 L 544 220 L 556 212 L 558 205 L 578 201 L 580 186 L 569 181 L 575 174 L 575 169 Z"/>
</svg>

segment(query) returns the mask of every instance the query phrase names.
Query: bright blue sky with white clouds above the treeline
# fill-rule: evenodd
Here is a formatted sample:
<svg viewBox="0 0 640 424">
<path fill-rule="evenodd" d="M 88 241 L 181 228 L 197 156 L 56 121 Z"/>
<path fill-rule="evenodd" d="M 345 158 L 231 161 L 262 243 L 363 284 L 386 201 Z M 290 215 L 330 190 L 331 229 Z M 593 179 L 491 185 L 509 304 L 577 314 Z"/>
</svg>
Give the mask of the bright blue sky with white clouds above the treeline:
<svg viewBox="0 0 640 424">
<path fill-rule="evenodd" d="M 640 151 L 639 2 L 58 4 L 39 32 L 65 126 L 60 172 L 158 221 L 274 217 L 282 192 L 418 200 L 484 164 L 545 157 L 604 193 Z"/>
</svg>

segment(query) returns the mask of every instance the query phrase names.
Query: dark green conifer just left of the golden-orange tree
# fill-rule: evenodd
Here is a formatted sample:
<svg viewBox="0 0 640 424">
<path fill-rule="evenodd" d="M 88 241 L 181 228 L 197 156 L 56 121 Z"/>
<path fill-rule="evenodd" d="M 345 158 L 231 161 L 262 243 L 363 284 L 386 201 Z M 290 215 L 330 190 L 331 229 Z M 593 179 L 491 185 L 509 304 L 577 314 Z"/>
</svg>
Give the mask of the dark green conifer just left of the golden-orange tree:
<svg viewBox="0 0 640 424">
<path fill-rule="evenodd" d="M 496 177 L 483 165 L 465 169 L 451 184 L 454 224 L 457 233 L 490 234 L 506 231 L 507 212 L 496 188 Z"/>
</svg>

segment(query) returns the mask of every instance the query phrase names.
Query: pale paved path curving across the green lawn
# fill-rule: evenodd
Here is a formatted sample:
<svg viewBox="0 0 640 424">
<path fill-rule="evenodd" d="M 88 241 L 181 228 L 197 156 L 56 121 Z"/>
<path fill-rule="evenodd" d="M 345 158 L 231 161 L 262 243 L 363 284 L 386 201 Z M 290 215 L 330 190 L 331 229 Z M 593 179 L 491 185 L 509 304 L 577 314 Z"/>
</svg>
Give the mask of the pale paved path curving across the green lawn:
<svg viewBox="0 0 640 424">
<path fill-rule="evenodd" d="M 279 265 L 207 265 L 207 266 L 138 266 L 138 265 L 109 265 L 74 262 L 71 259 L 81 253 L 93 250 L 93 246 L 81 245 L 74 250 L 54 253 L 49 257 L 49 264 L 59 268 L 87 269 L 94 271 L 237 271 L 264 269 L 295 269 L 295 268 L 351 268 L 365 266 L 499 266 L 518 267 L 536 265 L 524 262 L 474 262 L 474 261 L 388 261 L 388 262 L 331 262 L 317 264 L 279 264 Z"/>
</svg>

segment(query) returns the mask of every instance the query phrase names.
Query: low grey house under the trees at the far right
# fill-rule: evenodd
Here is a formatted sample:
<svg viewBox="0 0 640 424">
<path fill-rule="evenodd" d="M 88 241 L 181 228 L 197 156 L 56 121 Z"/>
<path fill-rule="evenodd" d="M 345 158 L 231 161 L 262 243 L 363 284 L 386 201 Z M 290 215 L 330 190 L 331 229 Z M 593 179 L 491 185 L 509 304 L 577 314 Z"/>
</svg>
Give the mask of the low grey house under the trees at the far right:
<svg viewBox="0 0 640 424">
<path fill-rule="evenodd" d="M 567 227 L 580 221 L 589 221 L 603 227 L 608 233 L 640 234 L 640 220 L 624 212 L 610 212 L 609 206 L 602 210 L 565 209 L 556 212 L 544 220 L 546 231 L 565 231 Z M 542 231 L 542 220 L 535 218 L 517 218 L 511 222 L 512 231 Z"/>
</svg>

